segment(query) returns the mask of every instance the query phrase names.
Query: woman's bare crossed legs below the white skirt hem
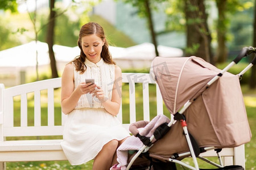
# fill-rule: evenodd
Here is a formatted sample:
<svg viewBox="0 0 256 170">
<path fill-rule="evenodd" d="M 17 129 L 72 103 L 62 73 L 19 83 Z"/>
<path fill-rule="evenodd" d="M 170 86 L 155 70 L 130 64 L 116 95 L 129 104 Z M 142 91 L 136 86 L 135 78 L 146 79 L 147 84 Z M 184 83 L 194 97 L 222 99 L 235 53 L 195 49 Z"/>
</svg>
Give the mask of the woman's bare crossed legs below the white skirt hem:
<svg viewBox="0 0 256 170">
<path fill-rule="evenodd" d="M 118 143 L 119 142 L 117 140 L 112 140 L 102 147 L 102 150 L 94 159 L 93 170 L 109 170 L 109 168 L 112 166 L 114 155 L 116 155 L 115 152 L 117 151 Z"/>
</svg>

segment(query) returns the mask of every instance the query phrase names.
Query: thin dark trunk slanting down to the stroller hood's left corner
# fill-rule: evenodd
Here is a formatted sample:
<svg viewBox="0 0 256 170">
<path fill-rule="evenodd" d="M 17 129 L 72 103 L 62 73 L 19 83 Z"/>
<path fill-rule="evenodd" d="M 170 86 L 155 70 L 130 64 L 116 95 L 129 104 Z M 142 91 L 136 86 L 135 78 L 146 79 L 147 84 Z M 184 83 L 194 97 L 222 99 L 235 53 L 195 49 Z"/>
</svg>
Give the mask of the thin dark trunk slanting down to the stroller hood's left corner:
<svg viewBox="0 0 256 170">
<path fill-rule="evenodd" d="M 152 42 L 155 46 L 155 54 L 156 54 L 156 56 L 159 56 L 158 44 L 156 42 L 156 36 L 155 36 L 155 31 L 154 31 L 154 24 L 153 24 L 153 20 L 152 20 L 152 14 L 151 14 L 149 0 L 144 0 L 144 5 L 145 5 L 146 11 L 147 11 L 147 19 L 148 19 L 148 25 L 150 27 Z"/>
</svg>

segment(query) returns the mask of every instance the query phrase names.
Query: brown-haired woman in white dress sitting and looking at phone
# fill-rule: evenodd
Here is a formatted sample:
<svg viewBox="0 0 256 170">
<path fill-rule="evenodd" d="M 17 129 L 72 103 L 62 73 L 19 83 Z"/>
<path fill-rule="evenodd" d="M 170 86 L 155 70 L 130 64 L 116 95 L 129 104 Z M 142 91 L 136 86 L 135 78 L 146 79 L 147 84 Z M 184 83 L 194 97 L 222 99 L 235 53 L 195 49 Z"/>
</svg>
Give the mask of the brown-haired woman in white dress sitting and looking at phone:
<svg viewBox="0 0 256 170">
<path fill-rule="evenodd" d="M 83 25 L 77 44 L 80 56 L 65 66 L 61 78 L 61 109 L 68 114 L 61 147 L 72 165 L 94 159 L 93 169 L 109 169 L 117 163 L 117 147 L 130 136 L 116 117 L 122 72 L 99 24 Z"/>
</svg>

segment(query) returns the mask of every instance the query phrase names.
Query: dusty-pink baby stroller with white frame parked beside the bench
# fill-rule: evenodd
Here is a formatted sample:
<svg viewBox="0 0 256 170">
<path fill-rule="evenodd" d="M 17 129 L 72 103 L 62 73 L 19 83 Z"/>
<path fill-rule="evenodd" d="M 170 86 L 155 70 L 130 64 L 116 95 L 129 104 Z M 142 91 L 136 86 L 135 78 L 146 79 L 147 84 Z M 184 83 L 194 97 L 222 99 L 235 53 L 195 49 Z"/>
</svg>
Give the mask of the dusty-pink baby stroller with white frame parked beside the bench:
<svg viewBox="0 0 256 170">
<path fill-rule="evenodd" d="M 252 53 L 256 53 L 255 48 L 243 48 L 223 70 L 195 56 L 156 57 L 152 61 L 151 74 L 174 118 L 163 121 L 150 135 L 142 134 L 139 128 L 146 128 L 151 122 L 131 124 L 133 138 L 141 140 L 143 146 L 130 156 L 127 169 L 138 158 L 150 160 L 154 170 L 176 169 L 176 163 L 197 170 L 199 165 L 196 158 L 215 165 L 217 169 L 243 169 L 238 165 L 223 167 L 221 158 L 219 165 L 202 158 L 200 153 L 216 150 L 220 157 L 222 148 L 236 147 L 250 141 L 251 131 L 239 79 L 255 65 L 256 57 L 238 75 L 227 71 Z M 130 137 L 130 140 L 133 138 Z M 128 139 L 125 142 L 129 143 Z M 125 145 L 123 143 L 118 148 L 118 159 L 122 146 L 127 148 Z M 193 158 L 195 167 L 182 162 L 187 157 Z"/>
</svg>

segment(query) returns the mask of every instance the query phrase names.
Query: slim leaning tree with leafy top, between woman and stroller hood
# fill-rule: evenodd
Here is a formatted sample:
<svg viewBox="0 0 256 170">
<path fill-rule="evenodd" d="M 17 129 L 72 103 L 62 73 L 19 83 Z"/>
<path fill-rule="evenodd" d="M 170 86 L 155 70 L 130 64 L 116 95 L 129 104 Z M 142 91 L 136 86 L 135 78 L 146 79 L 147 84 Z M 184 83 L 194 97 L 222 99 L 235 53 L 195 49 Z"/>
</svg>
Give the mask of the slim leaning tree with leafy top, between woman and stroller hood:
<svg viewBox="0 0 256 170">
<path fill-rule="evenodd" d="M 157 5 L 160 2 L 163 2 L 164 0 L 156 0 L 156 1 L 123 0 L 123 1 L 125 3 L 131 3 L 131 5 L 133 5 L 134 7 L 136 7 L 138 9 L 139 16 L 147 19 L 148 28 L 150 29 L 150 33 L 151 33 L 151 40 L 155 46 L 155 54 L 156 54 L 156 56 L 159 56 L 158 49 L 157 49 L 158 43 L 156 41 L 156 33 L 155 33 L 155 29 L 154 29 L 154 22 L 152 19 L 152 9 L 157 10 Z"/>
</svg>

